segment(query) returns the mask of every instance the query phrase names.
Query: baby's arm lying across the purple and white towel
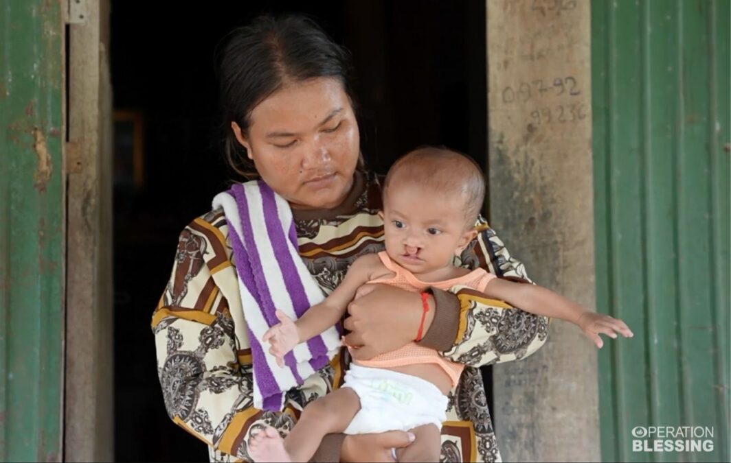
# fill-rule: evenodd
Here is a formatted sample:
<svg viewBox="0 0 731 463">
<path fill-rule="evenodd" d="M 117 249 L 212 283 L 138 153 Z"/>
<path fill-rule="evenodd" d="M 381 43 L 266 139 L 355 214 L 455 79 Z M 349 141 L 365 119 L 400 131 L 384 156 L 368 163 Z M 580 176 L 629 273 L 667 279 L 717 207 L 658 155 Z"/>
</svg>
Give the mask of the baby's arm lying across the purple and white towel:
<svg viewBox="0 0 731 463">
<path fill-rule="evenodd" d="M 272 326 L 262 337 L 269 342 L 269 352 L 277 356 L 283 365 L 282 358 L 295 345 L 304 343 L 312 337 L 324 332 L 343 318 L 348 304 L 355 297 L 355 291 L 371 280 L 371 275 L 382 267 L 377 254 L 366 254 L 352 263 L 343 281 L 330 293 L 324 301 L 310 307 L 298 320 L 292 321 L 281 310 L 276 311 L 280 324 Z"/>
</svg>

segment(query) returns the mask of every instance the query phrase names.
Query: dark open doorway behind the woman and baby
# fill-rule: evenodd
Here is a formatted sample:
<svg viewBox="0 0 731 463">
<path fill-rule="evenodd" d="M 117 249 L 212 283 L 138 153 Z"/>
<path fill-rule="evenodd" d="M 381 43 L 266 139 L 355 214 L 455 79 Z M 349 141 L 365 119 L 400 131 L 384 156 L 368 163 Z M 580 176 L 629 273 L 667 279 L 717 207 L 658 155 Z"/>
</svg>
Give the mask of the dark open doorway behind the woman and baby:
<svg viewBox="0 0 731 463">
<path fill-rule="evenodd" d="M 425 143 L 469 153 L 485 167 L 485 2 L 258 0 L 140 9 L 111 1 L 118 461 L 208 459 L 205 445 L 167 417 L 149 322 L 178 234 L 240 180 L 216 142 L 213 50 L 262 12 L 311 15 L 352 51 L 361 144 L 376 172 Z M 493 410 L 489 368 L 483 376 Z"/>
</svg>

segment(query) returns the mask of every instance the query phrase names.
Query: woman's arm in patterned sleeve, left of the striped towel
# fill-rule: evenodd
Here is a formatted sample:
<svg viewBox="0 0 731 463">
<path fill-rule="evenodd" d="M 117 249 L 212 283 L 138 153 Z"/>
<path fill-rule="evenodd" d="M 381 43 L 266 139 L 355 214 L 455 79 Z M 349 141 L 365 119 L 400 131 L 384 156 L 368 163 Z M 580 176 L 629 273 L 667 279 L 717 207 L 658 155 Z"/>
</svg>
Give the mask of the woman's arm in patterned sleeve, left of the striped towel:
<svg viewBox="0 0 731 463">
<path fill-rule="evenodd" d="M 224 238 L 225 219 L 197 219 L 183 230 L 170 281 L 152 318 L 158 374 L 170 418 L 216 450 L 248 458 L 249 432 L 291 429 L 305 395 L 332 389 L 329 375 L 287 394 L 285 413 L 253 407 L 251 351 L 238 282 Z M 235 299 L 235 300 L 234 300 Z M 235 315 L 238 310 L 239 315 Z M 340 448 L 330 449 L 339 456 Z"/>
</svg>

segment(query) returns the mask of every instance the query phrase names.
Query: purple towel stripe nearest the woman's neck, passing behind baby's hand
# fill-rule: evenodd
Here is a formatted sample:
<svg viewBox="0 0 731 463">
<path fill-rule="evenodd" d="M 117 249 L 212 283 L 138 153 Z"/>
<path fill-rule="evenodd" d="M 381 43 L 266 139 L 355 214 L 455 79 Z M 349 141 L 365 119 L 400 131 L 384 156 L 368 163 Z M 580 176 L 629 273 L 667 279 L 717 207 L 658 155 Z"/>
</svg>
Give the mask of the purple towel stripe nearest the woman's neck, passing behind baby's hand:
<svg viewBox="0 0 731 463">
<path fill-rule="evenodd" d="M 292 301 L 292 306 L 295 309 L 297 317 L 300 318 L 310 307 L 311 303 L 307 299 L 305 287 L 303 286 L 302 280 L 300 280 L 295 261 L 292 260 L 292 256 L 289 254 L 289 243 L 287 243 L 285 238 L 285 230 L 282 229 L 282 226 L 285 226 L 285 224 L 279 221 L 274 192 L 263 182 L 259 183 L 259 191 L 262 195 L 262 210 L 265 211 L 264 221 L 267 226 L 270 242 L 272 243 L 274 257 L 277 263 L 279 263 L 279 269 L 281 270 L 282 278 L 284 278 L 284 286 L 287 287 L 289 299 Z M 292 245 L 297 249 L 296 241 Z M 317 359 L 319 356 L 325 356 L 327 359 L 327 348 L 319 334 L 308 340 L 307 346 L 310 349 L 312 360 Z M 317 364 L 319 364 L 319 361 Z M 321 365 L 320 368 L 322 366 L 324 365 Z"/>
</svg>

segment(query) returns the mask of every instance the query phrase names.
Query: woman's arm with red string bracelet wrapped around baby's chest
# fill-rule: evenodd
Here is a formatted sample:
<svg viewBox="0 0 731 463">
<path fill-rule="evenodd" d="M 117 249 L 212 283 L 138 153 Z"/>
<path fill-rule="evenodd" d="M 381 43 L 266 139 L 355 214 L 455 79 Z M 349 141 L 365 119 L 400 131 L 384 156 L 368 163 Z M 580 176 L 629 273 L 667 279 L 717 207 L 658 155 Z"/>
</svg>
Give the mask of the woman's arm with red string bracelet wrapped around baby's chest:
<svg viewBox="0 0 731 463">
<path fill-rule="evenodd" d="M 463 264 L 482 267 L 499 277 L 530 281 L 523 264 L 510 256 L 482 218 L 478 231 L 477 239 L 462 255 Z M 414 340 L 423 312 L 419 294 L 385 285 L 374 285 L 368 290 L 368 294 L 350 304 L 351 317 L 344 322 L 344 327 L 352 331 L 346 343 L 363 345 L 353 353 L 359 359 L 368 359 Z M 426 334 L 420 345 L 436 349 L 452 361 L 477 367 L 522 359 L 537 351 L 548 337 L 547 317 L 488 299 L 465 286 L 430 291 Z M 401 307 L 398 314 L 388 310 L 390 300 L 398 301 Z"/>
</svg>

